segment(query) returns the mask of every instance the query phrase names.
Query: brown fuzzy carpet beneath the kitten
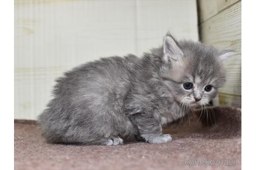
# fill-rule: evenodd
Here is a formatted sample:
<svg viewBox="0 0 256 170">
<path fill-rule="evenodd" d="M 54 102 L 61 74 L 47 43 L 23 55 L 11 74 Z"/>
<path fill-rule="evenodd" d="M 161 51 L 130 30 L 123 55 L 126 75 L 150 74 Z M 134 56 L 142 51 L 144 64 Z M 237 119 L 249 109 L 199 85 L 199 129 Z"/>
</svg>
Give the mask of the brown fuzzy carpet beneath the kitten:
<svg viewBox="0 0 256 170">
<path fill-rule="evenodd" d="M 35 124 L 17 120 L 15 169 L 241 169 L 241 110 L 215 108 L 214 112 L 212 126 L 206 120 L 196 124 L 196 116 L 190 124 L 188 119 L 172 124 L 165 132 L 173 140 L 161 145 L 47 144 Z"/>
</svg>

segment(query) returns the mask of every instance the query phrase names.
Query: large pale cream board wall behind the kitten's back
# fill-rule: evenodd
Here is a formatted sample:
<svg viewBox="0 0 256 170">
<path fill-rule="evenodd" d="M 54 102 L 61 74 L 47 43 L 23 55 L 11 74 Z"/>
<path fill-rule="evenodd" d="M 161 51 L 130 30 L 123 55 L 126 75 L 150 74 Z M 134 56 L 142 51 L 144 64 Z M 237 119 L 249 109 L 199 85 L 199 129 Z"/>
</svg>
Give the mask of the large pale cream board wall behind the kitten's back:
<svg viewBox="0 0 256 170">
<path fill-rule="evenodd" d="M 15 118 L 36 119 L 54 79 L 102 56 L 141 55 L 171 31 L 198 40 L 193 1 L 15 0 Z"/>
</svg>

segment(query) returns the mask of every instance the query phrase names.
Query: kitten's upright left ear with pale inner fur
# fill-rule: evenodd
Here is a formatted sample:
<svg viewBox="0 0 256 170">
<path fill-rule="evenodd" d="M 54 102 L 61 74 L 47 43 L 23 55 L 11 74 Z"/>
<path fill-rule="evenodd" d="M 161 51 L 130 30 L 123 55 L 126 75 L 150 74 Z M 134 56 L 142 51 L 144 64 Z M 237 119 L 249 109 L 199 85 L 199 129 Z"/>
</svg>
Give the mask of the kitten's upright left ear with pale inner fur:
<svg viewBox="0 0 256 170">
<path fill-rule="evenodd" d="M 182 58 L 183 55 L 182 50 L 178 47 L 174 38 L 170 35 L 165 36 L 163 39 L 163 61 L 177 61 Z"/>
</svg>

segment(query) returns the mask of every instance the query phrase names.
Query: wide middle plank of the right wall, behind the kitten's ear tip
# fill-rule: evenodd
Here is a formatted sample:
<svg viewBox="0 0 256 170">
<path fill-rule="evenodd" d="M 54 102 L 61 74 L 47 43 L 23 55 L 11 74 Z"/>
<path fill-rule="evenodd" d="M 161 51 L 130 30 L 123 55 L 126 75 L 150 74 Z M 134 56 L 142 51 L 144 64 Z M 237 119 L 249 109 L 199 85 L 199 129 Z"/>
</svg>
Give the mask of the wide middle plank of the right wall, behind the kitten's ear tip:
<svg viewBox="0 0 256 170">
<path fill-rule="evenodd" d="M 237 55 L 226 60 L 227 81 L 220 92 L 241 95 L 241 2 L 201 23 L 200 29 L 204 44 L 237 52 Z"/>
</svg>

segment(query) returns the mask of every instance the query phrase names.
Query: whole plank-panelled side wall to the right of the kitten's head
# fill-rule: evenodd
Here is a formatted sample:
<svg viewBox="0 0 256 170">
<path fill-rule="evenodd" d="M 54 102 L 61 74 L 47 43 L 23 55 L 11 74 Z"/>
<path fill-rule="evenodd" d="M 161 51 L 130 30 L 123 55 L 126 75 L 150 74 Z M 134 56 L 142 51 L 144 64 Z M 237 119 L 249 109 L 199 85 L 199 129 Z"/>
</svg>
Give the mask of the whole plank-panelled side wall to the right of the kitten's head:
<svg viewBox="0 0 256 170">
<path fill-rule="evenodd" d="M 227 81 L 214 104 L 241 107 L 241 1 L 199 0 L 198 7 L 202 43 L 237 52 L 226 61 Z"/>
</svg>

